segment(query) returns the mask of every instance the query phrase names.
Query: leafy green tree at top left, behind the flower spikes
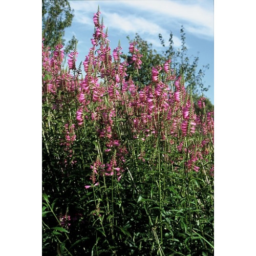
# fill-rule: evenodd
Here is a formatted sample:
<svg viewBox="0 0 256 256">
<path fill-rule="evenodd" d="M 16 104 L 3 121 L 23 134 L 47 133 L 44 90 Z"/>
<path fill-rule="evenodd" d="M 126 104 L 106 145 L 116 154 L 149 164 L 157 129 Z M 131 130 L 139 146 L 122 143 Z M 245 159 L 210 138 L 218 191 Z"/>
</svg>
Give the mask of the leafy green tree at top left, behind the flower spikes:
<svg viewBox="0 0 256 256">
<path fill-rule="evenodd" d="M 51 50 L 61 42 L 65 45 L 65 28 L 72 24 L 74 10 L 71 10 L 68 0 L 42 0 L 42 37 L 45 38 L 44 45 Z M 65 53 L 75 47 L 77 39 L 73 38 L 68 42 Z"/>
</svg>

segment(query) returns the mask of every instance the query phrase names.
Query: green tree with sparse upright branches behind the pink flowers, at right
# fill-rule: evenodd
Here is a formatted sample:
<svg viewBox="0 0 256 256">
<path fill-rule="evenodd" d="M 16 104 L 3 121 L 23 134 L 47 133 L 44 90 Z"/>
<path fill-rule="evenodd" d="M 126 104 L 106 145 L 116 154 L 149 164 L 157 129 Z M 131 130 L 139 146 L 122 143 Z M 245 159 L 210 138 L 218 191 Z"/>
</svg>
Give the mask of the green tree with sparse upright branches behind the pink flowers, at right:
<svg viewBox="0 0 256 256">
<path fill-rule="evenodd" d="M 139 71 L 140 75 L 138 77 L 133 65 L 129 65 L 127 67 L 127 74 L 133 77 L 133 80 L 140 84 L 140 86 L 144 86 L 148 84 L 151 80 L 152 67 L 156 67 L 157 65 L 161 65 L 164 61 L 170 59 L 171 68 L 175 70 L 177 75 L 181 73 L 184 75 L 184 81 L 187 89 L 192 90 L 193 95 L 198 96 L 203 92 L 206 92 L 209 87 L 205 87 L 202 78 L 204 77 L 205 71 L 209 68 L 208 65 L 203 66 L 198 70 L 198 60 L 199 57 L 188 57 L 187 56 L 187 48 L 185 43 L 185 33 L 183 26 L 180 30 L 181 33 L 181 49 L 176 49 L 174 47 L 173 34 L 170 32 L 168 47 L 165 47 L 165 42 L 162 38 L 162 35 L 159 34 L 159 39 L 161 45 L 165 48 L 162 51 L 162 54 L 157 53 L 155 49 L 152 49 L 152 44 L 148 44 L 145 40 L 143 40 L 138 34 L 135 36 L 135 41 L 137 42 L 137 49 L 143 55 L 141 57 L 142 65 Z M 130 37 L 127 37 L 129 42 L 131 43 L 133 40 Z M 131 59 L 131 55 L 123 55 L 123 57 L 127 58 L 127 61 Z M 191 62 L 192 60 L 192 62 Z"/>
</svg>

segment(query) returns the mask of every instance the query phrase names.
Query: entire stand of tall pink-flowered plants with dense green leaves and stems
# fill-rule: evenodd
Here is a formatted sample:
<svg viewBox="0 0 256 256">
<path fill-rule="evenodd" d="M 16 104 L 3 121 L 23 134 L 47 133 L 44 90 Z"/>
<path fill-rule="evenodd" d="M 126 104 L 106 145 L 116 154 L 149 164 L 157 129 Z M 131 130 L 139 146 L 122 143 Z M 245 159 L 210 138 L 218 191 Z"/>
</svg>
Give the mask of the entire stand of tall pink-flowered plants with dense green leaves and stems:
<svg viewBox="0 0 256 256">
<path fill-rule="evenodd" d="M 80 65 L 42 45 L 42 252 L 213 255 L 214 113 L 170 60 L 144 87 L 127 79 L 99 16 Z"/>
</svg>

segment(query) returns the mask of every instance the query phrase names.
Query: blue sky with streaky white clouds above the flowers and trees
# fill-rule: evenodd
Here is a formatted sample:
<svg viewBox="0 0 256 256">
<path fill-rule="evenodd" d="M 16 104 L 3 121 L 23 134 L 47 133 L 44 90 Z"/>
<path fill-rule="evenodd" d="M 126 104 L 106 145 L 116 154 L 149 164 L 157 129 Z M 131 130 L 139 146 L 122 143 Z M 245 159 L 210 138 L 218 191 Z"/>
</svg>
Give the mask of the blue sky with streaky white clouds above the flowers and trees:
<svg viewBox="0 0 256 256">
<path fill-rule="evenodd" d="M 124 53 L 129 43 L 126 36 L 134 38 L 138 33 L 142 39 L 161 52 L 158 34 L 168 42 L 173 33 L 174 46 L 181 46 L 180 29 L 186 34 L 187 55 L 193 61 L 199 57 L 198 68 L 209 64 L 203 82 L 210 86 L 205 93 L 214 103 L 214 0 L 151 0 L 151 1 L 69 1 L 74 9 L 72 26 L 65 31 L 66 40 L 73 35 L 78 39 L 78 59 L 84 60 L 92 47 L 94 33 L 93 14 L 100 8 L 105 28 L 108 28 L 110 47 L 113 50 L 120 40 Z"/>
</svg>

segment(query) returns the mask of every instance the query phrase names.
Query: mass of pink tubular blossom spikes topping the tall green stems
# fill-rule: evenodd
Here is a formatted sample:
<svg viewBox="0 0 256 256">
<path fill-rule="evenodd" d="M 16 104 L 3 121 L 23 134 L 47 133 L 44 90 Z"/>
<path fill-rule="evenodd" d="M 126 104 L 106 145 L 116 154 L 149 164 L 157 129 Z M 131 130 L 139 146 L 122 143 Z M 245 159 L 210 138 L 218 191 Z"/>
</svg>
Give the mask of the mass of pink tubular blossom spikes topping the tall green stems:
<svg viewBox="0 0 256 256">
<path fill-rule="evenodd" d="M 152 81 L 139 90 L 133 79 L 127 77 L 128 63 L 121 61 L 120 44 L 111 52 L 108 35 L 99 18 L 98 10 L 93 17 L 92 47 L 83 61 L 83 79 L 70 74 L 70 70 L 76 68 L 76 51 L 70 53 L 69 70 L 65 71 L 61 68 L 62 46 L 58 45 L 52 55 L 44 46 L 42 48 L 42 93 L 45 100 L 54 102 L 54 111 L 65 111 L 75 102 L 74 120 L 63 124 L 65 132 L 60 141 L 70 157 L 77 133 L 88 126 L 94 129 L 98 155 L 91 163 L 91 184 L 85 188 L 99 186 L 99 177 L 103 175 L 114 176 L 118 181 L 121 179 L 129 156 L 130 140 L 142 145 L 138 161 L 146 163 L 147 144 L 153 141 L 153 146 L 156 146 L 160 138 L 167 153 L 175 148 L 177 153 L 187 156 L 186 168 L 199 172 L 200 161 L 208 158 L 210 144 L 214 143 L 214 113 L 196 115 L 183 77 L 176 76 L 170 68 L 171 60 L 153 67 Z M 142 55 L 136 44 L 135 41 L 130 44 L 129 51 L 135 69 L 140 69 Z M 204 100 L 201 98 L 198 102 L 201 109 L 205 108 Z M 131 136 L 127 138 L 127 134 Z M 197 143 L 188 144 L 193 136 L 198 136 Z M 169 157 L 167 153 L 165 161 L 182 161 L 181 158 Z"/>
</svg>

